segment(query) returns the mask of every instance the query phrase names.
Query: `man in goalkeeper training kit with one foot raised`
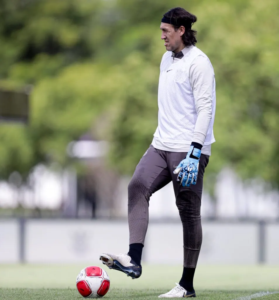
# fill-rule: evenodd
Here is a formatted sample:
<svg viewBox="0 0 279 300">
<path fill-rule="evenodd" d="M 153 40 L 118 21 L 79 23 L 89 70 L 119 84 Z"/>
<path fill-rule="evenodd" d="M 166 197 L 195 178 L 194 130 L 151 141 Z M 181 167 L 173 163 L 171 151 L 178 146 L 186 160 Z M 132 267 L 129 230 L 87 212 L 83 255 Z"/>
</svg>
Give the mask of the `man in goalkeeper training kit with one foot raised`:
<svg viewBox="0 0 279 300">
<path fill-rule="evenodd" d="M 160 64 L 158 127 L 128 186 L 129 252 L 100 255 L 109 268 L 132 278 L 141 275 L 149 198 L 172 181 L 183 226 L 184 268 L 179 284 L 161 298 L 195 297 L 203 175 L 215 142 L 215 76 L 209 59 L 195 46 L 191 27 L 196 19 L 181 7 L 163 15 L 161 39 L 167 52 Z"/>
</svg>

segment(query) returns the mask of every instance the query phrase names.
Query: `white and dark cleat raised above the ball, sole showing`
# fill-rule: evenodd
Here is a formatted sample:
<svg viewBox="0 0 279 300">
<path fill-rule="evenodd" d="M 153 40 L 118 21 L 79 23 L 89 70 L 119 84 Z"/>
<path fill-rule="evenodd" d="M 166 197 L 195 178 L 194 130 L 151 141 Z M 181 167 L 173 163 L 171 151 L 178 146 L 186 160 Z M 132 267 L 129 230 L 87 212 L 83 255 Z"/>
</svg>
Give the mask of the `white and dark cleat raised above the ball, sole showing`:
<svg viewBox="0 0 279 300">
<path fill-rule="evenodd" d="M 137 265 L 131 256 L 128 254 L 110 254 L 102 253 L 100 255 L 100 260 L 104 265 L 107 265 L 110 269 L 122 271 L 127 276 L 133 279 L 139 278 L 142 272 L 141 265 Z"/>
</svg>

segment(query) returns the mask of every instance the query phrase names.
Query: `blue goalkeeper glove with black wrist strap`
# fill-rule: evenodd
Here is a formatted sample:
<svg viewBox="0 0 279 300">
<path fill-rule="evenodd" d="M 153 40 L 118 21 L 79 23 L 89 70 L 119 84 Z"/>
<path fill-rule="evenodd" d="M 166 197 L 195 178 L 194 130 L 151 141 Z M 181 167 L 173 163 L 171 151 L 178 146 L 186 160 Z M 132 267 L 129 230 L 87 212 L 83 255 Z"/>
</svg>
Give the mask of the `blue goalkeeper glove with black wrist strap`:
<svg viewBox="0 0 279 300">
<path fill-rule="evenodd" d="M 201 148 L 201 144 L 193 142 L 186 158 L 184 158 L 173 171 L 174 174 L 178 174 L 176 181 L 180 182 L 183 187 L 185 187 L 185 185 L 189 187 L 191 184 L 197 183 Z"/>
</svg>

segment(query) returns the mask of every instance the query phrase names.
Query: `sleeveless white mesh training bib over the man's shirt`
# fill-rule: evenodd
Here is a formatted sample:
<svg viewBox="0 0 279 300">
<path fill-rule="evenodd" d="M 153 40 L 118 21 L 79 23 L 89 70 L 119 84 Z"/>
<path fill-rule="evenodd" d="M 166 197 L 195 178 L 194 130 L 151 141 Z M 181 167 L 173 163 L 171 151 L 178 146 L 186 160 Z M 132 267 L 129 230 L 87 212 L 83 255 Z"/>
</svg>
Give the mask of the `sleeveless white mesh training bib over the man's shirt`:
<svg viewBox="0 0 279 300">
<path fill-rule="evenodd" d="M 191 46 L 178 62 L 172 63 L 173 58 L 171 52 L 168 51 L 163 55 L 160 65 L 158 126 L 154 138 L 162 142 L 173 143 L 177 145 L 175 146 L 177 149 L 183 149 L 185 145 L 191 144 L 197 121 L 189 69 L 193 59 L 199 55 L 207 58 L 200 49 Z M 210 66 L 212 67 L 211 63 Z M 212 97 L 212 119 L 204 142 L 205 146 L 215 142 L 213 134 L 216 107 L 215 80 Z M 152 144 L 156 147 L 154 143 Z"/>
</svg>

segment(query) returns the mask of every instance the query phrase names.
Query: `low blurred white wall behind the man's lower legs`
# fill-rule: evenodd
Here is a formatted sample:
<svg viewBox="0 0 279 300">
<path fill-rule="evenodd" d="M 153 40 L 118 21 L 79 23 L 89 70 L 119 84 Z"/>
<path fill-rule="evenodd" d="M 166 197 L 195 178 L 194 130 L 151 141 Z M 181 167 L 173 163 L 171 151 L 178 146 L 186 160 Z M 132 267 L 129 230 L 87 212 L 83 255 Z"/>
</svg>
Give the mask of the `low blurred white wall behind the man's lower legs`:
<svg viewBox="0 0 279 300">
<path fill-rule="evenodd" d="M 266 224 L 262 240 L 257 222 L 206 221 L 202 226 L 199 263 L 256 264 L 262 251 L 267 264 L 279 265 L 279 223 Z M 20 249 L 28 263 L 92 264 L 98 263 L 102 252 L 128 251 L 127 221 L 29 219 L 24 229 L 20 231 L 18 220 L 0 221 L 0 263 L 19 262 Z M 25 232 L 21 248 L 19 232 Z M 182 264 L 181 223 L 151 221 L 142 259 L 146 263 Z"/>
</svg>

